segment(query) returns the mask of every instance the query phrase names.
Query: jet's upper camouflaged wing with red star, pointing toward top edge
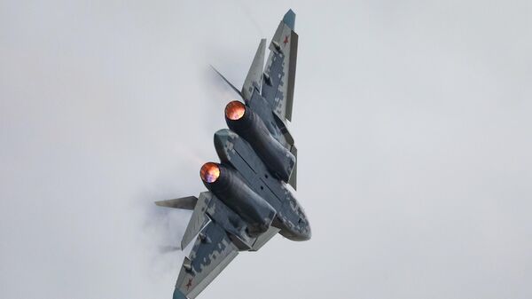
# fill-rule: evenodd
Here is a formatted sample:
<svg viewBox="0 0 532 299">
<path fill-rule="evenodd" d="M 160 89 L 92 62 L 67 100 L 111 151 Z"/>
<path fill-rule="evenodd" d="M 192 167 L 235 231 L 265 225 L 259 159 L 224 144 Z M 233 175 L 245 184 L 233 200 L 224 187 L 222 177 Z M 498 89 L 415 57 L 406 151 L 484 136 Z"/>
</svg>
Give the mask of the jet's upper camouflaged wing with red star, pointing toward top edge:
<svg viewBox="0 0 532 299">
<path fill-rule="evenodd" d="M 273 35 L 270 56 L 262 76 L 262 97 L 283 120 L 292 121 L 293 84 L 298 35 L 293 31 L 295 13 L 286 12 Z"/>
</svg>

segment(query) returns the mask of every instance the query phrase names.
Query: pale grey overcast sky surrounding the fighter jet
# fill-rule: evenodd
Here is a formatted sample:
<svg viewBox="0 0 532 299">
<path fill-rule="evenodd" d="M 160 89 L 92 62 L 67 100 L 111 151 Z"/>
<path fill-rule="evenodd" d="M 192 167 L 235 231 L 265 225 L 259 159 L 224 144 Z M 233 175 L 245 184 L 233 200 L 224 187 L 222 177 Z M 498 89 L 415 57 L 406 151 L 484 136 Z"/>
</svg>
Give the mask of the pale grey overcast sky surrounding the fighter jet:
<svg viewBox="0 0 532 299">
<path fill-rule="evenodd" d="M 192 2 L 191 2 L 192 3 Z M 0 1 L 0 297 L 170 298 L 188 212 L 288 8 L 309 242 L 202 299 L 532 297 L 529 1 Z"/>
</svg>

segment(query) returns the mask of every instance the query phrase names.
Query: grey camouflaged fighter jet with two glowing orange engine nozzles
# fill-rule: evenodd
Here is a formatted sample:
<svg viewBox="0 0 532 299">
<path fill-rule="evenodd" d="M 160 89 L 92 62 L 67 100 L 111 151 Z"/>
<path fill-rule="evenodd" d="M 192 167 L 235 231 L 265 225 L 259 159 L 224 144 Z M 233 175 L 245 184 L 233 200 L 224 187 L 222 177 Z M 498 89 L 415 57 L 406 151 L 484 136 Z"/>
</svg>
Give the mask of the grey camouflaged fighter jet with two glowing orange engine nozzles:
<svg viewBox="0 0 532 299">
<path fill-rule="evenodd" d="M 240 251 L 257 251 L 278 233 L 309 240 L 310 226 L 288 185 L 296 188 L 297 149 L 286 123 L 292 122 L 298 35 L 295 14 L 286 12 L 270 43 L 264 67 L 262 39 L 242 89 L 242 101 L 225 106 L 229 129 L 215 132 L 220 162 L 207 162 L 200 177 L 208 191 L 157 205 L 192 209 L 181 248 L 184 258 L 173 299 L 195 298 Z M 220 75 L 220 73 L 218 73 Z"/>
</svg>

